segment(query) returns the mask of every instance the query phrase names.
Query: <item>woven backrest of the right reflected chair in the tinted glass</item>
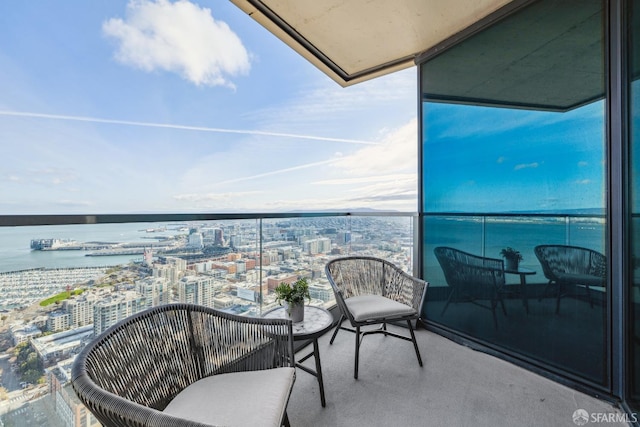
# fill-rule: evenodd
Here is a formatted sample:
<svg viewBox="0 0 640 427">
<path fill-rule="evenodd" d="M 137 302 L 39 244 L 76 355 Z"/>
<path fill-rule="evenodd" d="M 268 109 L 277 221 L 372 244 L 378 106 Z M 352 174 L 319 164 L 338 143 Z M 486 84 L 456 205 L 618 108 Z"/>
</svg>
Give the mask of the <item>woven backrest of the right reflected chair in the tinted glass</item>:
<svg viewBox="0 0 640 427">
<path fill-rule="evenodd" d="M 539 245 L 534 252 L 547 279 L 557 281 L 557 273 L 606 278 L 607 259 L 593 249 L 568 245 Z"/>
</svg>

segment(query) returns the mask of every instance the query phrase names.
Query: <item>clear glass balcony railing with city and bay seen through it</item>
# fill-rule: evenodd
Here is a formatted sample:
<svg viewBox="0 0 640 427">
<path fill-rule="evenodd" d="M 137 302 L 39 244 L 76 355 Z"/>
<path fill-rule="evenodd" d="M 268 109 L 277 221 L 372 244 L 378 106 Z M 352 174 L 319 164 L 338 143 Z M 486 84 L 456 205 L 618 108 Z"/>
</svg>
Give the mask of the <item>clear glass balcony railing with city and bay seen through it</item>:
<svg viewBox="0 0 640 427">
<path fill-rule="evenodd" d="M 71 389 L 69 372 L 74 356 L 109 326 L 171 302 L 260 316 L 277 305 L 274 288 L 299 277 L 308 279 L 311 304 L 332 307 L 327 261 L 371 255 L 412 272 L 416 219 L 405 213 L 2 217 L 0 421 L 98 425 Z"/>
</svg>

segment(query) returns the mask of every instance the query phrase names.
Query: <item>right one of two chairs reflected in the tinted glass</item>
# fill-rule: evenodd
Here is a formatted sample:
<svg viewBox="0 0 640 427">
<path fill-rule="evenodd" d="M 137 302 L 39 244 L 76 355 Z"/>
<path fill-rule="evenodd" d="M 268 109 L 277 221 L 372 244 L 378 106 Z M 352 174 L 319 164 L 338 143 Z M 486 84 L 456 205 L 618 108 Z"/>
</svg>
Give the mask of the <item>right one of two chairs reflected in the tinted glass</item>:
<svg viewBox="0 0 640 427">
<path fill-rule="evenodd" d="M 605 288 L 607 283 L 604 255 L 592 249 L 567 245 L 540 245 L 534 252 L 549 280 L 547 288 L 556 289 L 556 313 L 560 312 L 560 298 L 565 296 L 563 291 L 570 286 L 583 286 L 593 307 L 591 288 Z"/>
</svg>

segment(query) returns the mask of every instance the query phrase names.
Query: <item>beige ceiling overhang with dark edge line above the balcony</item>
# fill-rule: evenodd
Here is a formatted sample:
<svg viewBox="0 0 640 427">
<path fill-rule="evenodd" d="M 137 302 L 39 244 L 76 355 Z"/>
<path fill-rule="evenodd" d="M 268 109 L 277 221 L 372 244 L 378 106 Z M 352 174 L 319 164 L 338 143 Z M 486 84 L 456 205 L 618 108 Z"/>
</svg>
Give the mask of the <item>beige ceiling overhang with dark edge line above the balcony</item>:
<svg viewBox="0 0 640 427">
<path fill-rule="evenodd" d="M 341 86 L 411 67 L 512 0 L 231 0 Z"/>
</svg>

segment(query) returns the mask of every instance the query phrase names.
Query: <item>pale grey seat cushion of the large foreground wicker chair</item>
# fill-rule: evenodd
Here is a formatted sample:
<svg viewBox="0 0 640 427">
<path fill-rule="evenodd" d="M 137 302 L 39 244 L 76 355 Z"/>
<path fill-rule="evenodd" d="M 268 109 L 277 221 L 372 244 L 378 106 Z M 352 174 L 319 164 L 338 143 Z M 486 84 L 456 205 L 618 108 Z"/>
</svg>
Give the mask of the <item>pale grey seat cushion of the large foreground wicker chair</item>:
<svg viewBox="0 0 640 427">
<path fill-rule="evenodd" d="M 280 426 L 294 381 L 294 368 L 212 375 L 185 388 L 164 413 L 218 426 Z"/>
</svg>

